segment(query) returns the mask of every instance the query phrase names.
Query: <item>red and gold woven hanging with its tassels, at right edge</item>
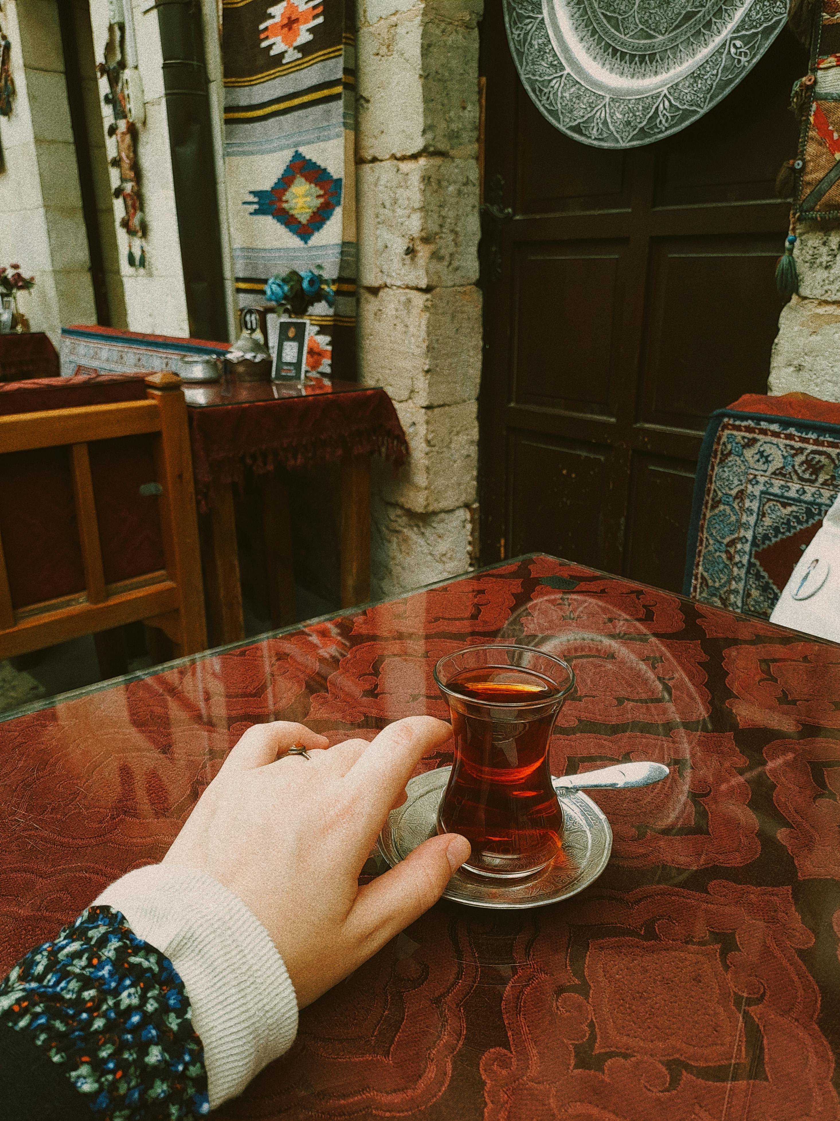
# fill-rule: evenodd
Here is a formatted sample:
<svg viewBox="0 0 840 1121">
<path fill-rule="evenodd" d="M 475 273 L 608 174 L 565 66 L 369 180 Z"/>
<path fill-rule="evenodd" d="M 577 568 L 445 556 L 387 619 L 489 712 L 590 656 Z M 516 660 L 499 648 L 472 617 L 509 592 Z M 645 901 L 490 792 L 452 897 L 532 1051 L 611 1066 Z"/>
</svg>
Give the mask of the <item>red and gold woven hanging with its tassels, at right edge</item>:
<svg viewBox="0 0 840 1121">
<path fill-rule="evenodd" d="M 795 159 L 782 165 L 776 189 L 791 198 L 791 225 L 776 266 L 783 296 L 799 291 L 793 250 L 800 222 L 840 222 L 840 0 L 792 0 L 788 22 L 811 47 L 808 74 L 794 83 L 791 109 L 802 121 Z"/>
</svg>

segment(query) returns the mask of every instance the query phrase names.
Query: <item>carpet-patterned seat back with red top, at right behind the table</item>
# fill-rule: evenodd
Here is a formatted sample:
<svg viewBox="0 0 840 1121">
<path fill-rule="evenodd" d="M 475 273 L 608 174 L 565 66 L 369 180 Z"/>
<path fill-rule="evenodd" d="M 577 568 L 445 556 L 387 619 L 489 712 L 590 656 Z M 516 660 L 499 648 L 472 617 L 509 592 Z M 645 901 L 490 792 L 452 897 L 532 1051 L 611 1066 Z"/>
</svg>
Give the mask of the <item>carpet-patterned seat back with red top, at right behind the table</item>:
<svg viewBox="0 0 840 1121">
<path fill-rule="evenodd" d="M 713 413 L 694 481 L 683 592 L 769 618 L 840 494 L 840 405 L 741 397 Z"/>
</svg>

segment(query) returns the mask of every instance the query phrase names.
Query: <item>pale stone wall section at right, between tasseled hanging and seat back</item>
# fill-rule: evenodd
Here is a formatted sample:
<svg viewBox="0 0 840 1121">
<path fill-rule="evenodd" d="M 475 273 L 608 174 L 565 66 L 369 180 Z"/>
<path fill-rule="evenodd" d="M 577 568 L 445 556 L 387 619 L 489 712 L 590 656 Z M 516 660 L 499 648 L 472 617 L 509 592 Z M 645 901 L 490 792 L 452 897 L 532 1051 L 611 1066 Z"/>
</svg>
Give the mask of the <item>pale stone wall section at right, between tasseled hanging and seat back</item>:
<svg viewBox="0 0 840 1121">
<path fill-rule="evenodd" d="M 800 295 L 785 305 L 767 391 L 840 401 L 840 230 L 799 231 Z"/>
</svg>

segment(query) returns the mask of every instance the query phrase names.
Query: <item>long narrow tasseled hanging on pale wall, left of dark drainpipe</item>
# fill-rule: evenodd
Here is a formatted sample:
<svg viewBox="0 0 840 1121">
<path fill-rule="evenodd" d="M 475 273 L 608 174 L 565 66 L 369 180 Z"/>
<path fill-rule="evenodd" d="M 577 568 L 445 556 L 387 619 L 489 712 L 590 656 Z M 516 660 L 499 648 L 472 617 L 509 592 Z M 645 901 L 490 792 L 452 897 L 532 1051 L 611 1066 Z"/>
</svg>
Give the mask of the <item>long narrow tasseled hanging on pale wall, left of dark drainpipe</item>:
<svg viewBox="0 0 840 1121">
<path fill-rule="evenodd" d="M 146 217 L 140 201 L 140 173 L 137 166 L 137 127 L 130 119 L 131 111 L 127 99 L 124 83 L 125 57 L 123 50 L 123 27 L 111 24 L 104 61 L 96 67 L 100 77 L 108 78 L 109 91 L 104 96 L 105 104 L 111 106 L 113 123 L 108 127 L 108 135 L 116 137 L 116 155 L 111 159 L 111 167 L 120 170 L 120 184 L 114 187 L 114 198 L 122 198 L 125 214 L 120 219 L 120 225 L 129 235 L 128 262 L 131 268 L 146 268 Z M 134 252 L 134 242 L 139 253 Z"/>
</svg>

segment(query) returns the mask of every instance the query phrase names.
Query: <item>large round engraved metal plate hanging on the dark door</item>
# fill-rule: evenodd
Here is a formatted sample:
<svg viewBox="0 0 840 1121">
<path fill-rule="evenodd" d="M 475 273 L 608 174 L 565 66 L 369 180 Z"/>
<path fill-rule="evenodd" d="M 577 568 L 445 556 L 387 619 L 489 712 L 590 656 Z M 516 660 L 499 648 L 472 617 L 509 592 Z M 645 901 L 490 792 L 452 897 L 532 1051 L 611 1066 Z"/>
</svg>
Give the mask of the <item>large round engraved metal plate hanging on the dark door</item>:
<svg viewBox="0 0 840 1121">
<path fill-rule="evenodd" d="M 741 81 L 786 0 L 503 0 L 534 104 L 567 136 L 635 148 L 679 132 Z"/>
</svg>

